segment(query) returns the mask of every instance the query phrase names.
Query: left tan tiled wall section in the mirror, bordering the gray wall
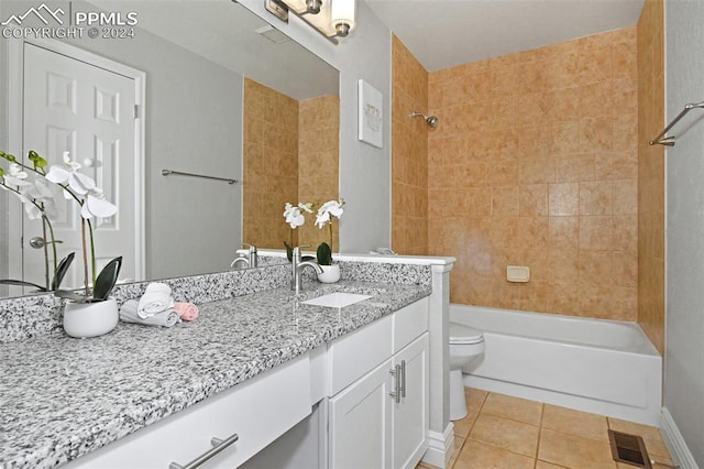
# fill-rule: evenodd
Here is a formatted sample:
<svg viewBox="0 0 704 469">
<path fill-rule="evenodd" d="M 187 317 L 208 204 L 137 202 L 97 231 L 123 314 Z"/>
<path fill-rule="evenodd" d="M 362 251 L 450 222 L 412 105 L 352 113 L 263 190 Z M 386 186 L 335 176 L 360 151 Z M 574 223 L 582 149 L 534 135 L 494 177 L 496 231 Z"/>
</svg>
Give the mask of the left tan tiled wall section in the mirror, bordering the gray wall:
<svg viewBox="0 0 704 469">
<path fill-rule="evenodd" d="M 284 204 L 298 200 L 298 101 L 245 78 L 243 140 L 242 241 L 283 249 Z"/>
</svg>

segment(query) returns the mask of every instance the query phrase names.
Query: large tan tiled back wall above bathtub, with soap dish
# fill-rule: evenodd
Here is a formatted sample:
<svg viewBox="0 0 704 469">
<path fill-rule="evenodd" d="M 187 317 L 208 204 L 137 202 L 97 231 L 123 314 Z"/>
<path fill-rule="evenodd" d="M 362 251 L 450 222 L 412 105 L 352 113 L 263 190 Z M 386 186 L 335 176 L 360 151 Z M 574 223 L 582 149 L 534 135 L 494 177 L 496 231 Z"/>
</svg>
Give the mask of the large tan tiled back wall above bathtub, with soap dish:
<svg viewBox="0 0 704 469">
<path fill-rule="evenodd" d="M 428 99 L 428 253 L 458 258 L 451 301 L 635 320 L 636 28 L 431 73 Z"/>
</svg>

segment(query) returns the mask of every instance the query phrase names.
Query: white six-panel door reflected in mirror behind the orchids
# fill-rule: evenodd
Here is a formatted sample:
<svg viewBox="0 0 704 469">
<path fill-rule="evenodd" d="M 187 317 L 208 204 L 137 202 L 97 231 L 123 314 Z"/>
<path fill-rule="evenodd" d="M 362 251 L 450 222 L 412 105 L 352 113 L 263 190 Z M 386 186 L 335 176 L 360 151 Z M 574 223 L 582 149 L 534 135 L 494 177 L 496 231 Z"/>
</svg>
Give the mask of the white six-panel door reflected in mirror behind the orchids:
<svg viewBox="0 0 704 469">
<path fill-rule="evenodd" d="M 118 214 L 94 219 L 97 270 L 122 255 L 121 279 L 136 279 L 135 270 L 135 81 L 106 68 L 24 44 L 24 155 L 34 150 L 50 164 L 62 164 L 64 151 L 84 165 Z M 88 167 L 86 160 L 100 162 Z M 26 162 L 29 163 L 29 162 Z M 54 221 L 57 258 L 76 252 L 63 287 L 82 284 L 80 215 L 75 201 L 61 203 Z M 42 223 L 24 219 L 24 280 L 44 279 L 44 253 L 29 240 L 42 237 Z M 53 275 L 50 274 L 50 279 Z M 89 279 L 90 282 L 90 279 Z"/>
</svg>

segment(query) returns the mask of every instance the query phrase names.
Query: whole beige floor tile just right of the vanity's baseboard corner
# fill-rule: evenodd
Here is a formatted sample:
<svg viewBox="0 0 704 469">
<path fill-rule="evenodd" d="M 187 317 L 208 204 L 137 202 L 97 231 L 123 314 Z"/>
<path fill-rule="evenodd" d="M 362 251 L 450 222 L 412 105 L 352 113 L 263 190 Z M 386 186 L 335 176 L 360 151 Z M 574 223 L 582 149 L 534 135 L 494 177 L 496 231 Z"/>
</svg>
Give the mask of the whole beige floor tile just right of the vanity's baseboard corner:
<svg viewBox="0 0 704 469">
<path fill-rule="evenodd" d="M 535 458 L 539 430 L 540 428 L 535 425 L 491 414 L 480 414 L 469 439 Z"/>
</svg>

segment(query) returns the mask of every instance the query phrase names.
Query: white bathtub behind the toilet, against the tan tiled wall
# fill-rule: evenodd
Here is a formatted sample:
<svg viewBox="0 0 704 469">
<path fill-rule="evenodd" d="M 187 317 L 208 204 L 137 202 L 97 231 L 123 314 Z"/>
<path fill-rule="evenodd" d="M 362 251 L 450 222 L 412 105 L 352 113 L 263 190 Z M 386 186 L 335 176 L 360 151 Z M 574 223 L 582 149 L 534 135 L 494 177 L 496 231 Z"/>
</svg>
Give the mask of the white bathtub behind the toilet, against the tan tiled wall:
<svg viewBox="0 0 704 469">
<path fill-rule="evenodd" d="M 662 359 L 635 323 L 450 305 L 450 320 L 484 331 L 464 384 L 658 425 Z"/>
</svg>

